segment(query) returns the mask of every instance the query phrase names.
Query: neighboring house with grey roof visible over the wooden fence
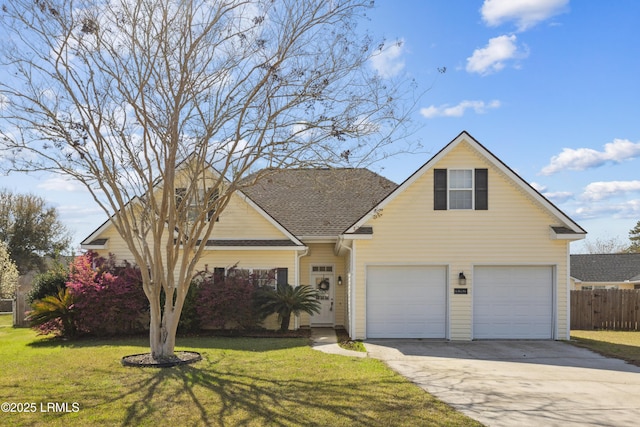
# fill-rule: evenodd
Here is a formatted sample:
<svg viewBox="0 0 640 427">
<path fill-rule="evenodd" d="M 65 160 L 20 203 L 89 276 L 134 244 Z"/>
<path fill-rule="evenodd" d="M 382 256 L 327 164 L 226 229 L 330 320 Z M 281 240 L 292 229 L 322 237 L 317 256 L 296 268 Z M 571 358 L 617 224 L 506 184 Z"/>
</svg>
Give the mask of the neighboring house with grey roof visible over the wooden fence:
<svg viewBox="0 0 640 427">
<path fill-rule="evenodd" d="M 640 253 L 571 255 L 571 289 L 640 289 Z"/>
</svg>

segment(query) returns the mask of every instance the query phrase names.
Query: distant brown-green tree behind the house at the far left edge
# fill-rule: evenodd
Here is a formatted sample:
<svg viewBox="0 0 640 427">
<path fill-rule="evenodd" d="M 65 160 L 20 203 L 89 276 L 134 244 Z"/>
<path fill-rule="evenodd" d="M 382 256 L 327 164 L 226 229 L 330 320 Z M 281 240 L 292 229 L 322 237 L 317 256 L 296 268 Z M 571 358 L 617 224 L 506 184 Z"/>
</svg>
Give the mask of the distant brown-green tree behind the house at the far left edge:
<svg viewBox="0 0 640 427">
<path fill-rule="evenodd" d="M 45 271 L 45 257 L 67 249 L 70 238 L 55 208 L 32 194 L 0 191 L 0 241 L 20 274 Z"/>
</svg>

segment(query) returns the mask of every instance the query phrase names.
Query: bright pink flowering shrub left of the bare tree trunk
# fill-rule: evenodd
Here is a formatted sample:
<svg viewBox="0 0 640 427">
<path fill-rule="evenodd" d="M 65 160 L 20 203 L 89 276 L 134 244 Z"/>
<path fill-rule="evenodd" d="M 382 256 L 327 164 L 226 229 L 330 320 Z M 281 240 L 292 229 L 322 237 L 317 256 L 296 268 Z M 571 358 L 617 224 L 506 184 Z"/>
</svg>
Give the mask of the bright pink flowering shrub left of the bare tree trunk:
<svg viewBox="0 0 640 427">
<path fill-rule="evenodd" d="M 69 269 L 67 289 L 75 300 L 75 322 L 80 333 L 114 335 L 144 330 L 142 313 L 149 303 L 142 290 L 140 270 L 117 265 L 115 258 L 88 252 L 76 257 Z"/>
</svg>

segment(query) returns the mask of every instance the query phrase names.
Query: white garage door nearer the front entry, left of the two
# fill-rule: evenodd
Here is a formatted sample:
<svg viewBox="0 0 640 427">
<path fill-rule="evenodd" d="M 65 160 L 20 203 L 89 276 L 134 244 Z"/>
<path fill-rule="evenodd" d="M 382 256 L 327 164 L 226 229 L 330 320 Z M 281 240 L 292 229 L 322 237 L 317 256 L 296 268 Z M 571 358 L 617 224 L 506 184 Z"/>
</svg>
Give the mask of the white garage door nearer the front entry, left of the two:
<svg viewBox="0 0 640 427">
<path fill-rule="evenodd" d="M 368 338 L 445 338 L 446 267 L 367 268 Z"/>
</svg>

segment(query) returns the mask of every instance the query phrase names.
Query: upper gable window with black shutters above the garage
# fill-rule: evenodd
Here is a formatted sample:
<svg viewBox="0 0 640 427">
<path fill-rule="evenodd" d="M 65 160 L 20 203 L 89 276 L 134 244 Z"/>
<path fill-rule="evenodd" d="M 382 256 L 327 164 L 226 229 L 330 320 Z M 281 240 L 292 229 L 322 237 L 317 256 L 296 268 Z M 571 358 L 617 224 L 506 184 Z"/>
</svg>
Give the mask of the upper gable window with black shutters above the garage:
<svg viewBox="0 0 640 427">
<path fill-rule="evenodd" d="M 488 169 L 434 169 L 434 210 L 487 210 L 488 184 Z"/>
</svg>

